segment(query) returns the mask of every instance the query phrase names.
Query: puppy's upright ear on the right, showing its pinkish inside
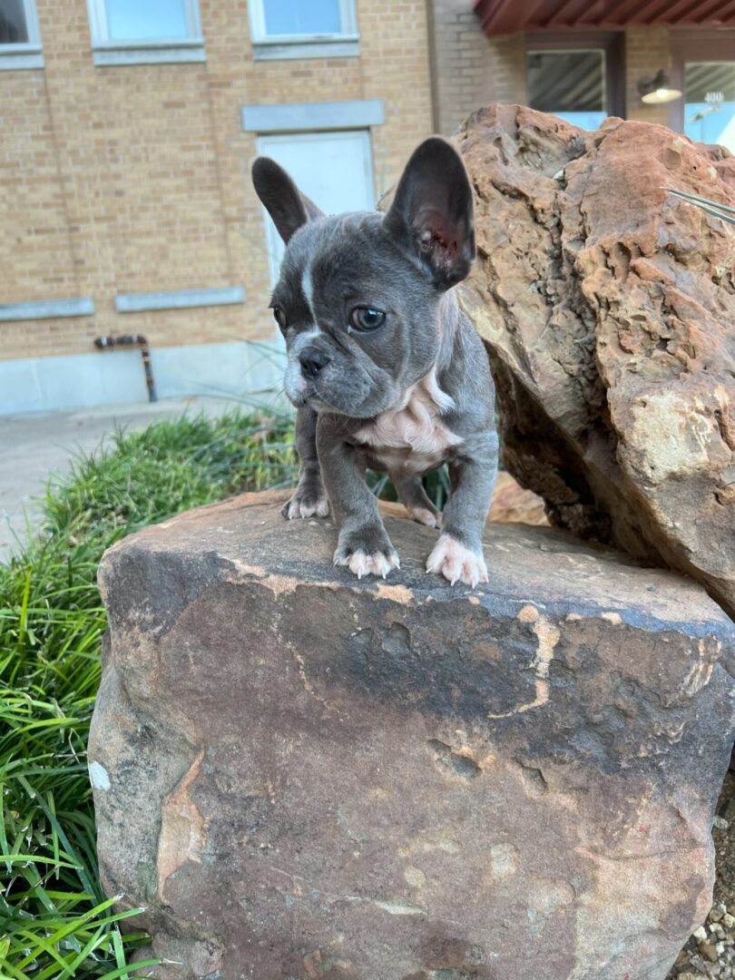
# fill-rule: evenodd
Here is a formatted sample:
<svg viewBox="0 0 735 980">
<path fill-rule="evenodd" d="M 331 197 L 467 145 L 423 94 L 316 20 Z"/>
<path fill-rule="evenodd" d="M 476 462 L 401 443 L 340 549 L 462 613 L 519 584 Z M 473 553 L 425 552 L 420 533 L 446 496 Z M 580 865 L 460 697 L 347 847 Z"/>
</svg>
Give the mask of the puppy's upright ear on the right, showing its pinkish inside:
<svg viewBox="0 0 735 980">
<path fill-rule="evenodd" d="M 414 151 L 383 225 L 437 289 L 466 277 L 475 256 L 472 189 L 450 143 L 432 136 Z"/>
</svg>

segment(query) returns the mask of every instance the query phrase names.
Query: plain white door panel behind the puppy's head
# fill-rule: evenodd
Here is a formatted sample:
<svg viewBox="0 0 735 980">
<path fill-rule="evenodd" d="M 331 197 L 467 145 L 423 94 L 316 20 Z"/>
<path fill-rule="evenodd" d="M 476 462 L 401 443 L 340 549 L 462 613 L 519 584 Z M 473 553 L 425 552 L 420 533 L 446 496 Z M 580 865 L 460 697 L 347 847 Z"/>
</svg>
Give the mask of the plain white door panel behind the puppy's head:
<svg viewBox="0 0 735 980">
<path fill-rule="evenodd" d="M 258 153 L 287 170 L 325 215 L 372 211 L 375 198 L 368 129 L 259 136 Z M 278 278 L 283 243 L 268 215 L 272 281 Z"/>
</svg>

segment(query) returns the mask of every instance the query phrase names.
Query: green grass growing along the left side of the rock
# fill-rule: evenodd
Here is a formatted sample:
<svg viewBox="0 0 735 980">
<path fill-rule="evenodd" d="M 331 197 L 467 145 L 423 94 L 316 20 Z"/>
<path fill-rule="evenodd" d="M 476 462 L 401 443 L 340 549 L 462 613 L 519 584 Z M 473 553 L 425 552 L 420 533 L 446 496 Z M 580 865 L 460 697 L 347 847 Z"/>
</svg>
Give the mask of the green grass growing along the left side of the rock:
<svg viewBox="0 0 735 980">
<path fill-rule="evenodd" d="M 100 678 L 102 553 L 239 490 L 290 485 L 286 418 L 118 433 L 49 489 L 38 534 L 0 564 L 0 977 L 125 976 L 145 942 L 99 883 L 86 741 Z M 121 919 L 131 917 L 123 933 Z"/>
</svg>

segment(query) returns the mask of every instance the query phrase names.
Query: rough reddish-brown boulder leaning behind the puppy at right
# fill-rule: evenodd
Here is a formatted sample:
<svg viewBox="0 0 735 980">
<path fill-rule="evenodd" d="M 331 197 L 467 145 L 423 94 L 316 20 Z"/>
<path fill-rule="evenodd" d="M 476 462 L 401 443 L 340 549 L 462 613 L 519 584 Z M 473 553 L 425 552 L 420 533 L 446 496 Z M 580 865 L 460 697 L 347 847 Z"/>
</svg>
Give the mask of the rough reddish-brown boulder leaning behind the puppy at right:
<svg viewBox="0 0 735 980">
<path fill-rule="evenodd" d="M 735 616 L 732 193 L 688 139 L 491 106 L 457 136 L 504 461 L 552 523 L 699 578 Z M 728 161 L 722 161 L 723 164 Z"/>
</svg>

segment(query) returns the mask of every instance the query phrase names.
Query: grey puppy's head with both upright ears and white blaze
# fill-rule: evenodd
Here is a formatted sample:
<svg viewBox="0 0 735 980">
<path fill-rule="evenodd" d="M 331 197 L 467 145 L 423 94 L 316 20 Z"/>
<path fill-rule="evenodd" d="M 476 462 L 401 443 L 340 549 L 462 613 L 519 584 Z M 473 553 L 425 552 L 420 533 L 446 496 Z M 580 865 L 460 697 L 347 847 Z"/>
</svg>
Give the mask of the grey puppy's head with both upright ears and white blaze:
<svg viewBox="0 0 735 980">
<path fill-rule="evenodd" d="M 474 259 L 459 154 L 437 137 L 421 143 L 385 216 L 325 218 L 267 157 L 253 183 L 286 243 L 270 305 L 286 339 L 288 397 L 353 418 L 395 408 L 435 363 L 442 294 Z"/>
</svg>

